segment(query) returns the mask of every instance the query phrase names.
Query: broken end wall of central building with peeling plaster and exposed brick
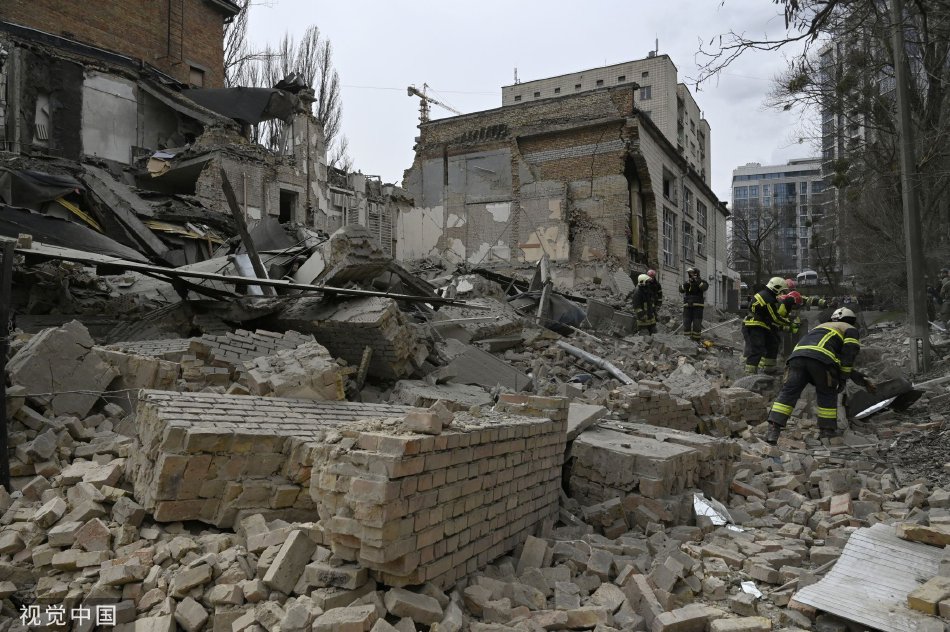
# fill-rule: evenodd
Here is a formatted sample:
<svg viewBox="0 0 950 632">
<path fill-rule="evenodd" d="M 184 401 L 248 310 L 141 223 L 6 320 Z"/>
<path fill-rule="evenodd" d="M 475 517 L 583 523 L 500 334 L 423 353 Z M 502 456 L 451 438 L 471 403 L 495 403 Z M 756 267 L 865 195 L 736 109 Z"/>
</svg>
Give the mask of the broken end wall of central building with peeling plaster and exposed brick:
<svg viewBox="0 0 950 632">
<path fill-rule="evenodd" d="M 424 125 L 397 254 L 626 262 L 632 104 L 621 88 Z"/>
</svg>

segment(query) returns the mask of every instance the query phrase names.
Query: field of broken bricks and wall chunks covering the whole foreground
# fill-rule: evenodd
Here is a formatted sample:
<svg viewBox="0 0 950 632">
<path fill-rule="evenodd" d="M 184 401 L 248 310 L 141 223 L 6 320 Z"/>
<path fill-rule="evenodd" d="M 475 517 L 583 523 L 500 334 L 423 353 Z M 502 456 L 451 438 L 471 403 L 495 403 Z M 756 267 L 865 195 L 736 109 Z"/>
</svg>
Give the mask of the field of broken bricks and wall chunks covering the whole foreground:
<svg viewBox="0 0 950 632">
<path fill-rule="evenodd" d="M 847 630 L 881 607 L 847 560 L 884 543 L 881 629 L 943 629 L 950 382 L 830 443 L 803 401 L 772 447 L 778 384 L 740 378 L 728 328 L 558 333 L 478 275 L 436 309 L 439 270 L 344 237 L 324 269 L 369 295 L 13 334 L 0 630 L 64 630 L 60 605 L 163 632 Z M 870 374 L 900 374 L 895 329 Z"/>
</svg>

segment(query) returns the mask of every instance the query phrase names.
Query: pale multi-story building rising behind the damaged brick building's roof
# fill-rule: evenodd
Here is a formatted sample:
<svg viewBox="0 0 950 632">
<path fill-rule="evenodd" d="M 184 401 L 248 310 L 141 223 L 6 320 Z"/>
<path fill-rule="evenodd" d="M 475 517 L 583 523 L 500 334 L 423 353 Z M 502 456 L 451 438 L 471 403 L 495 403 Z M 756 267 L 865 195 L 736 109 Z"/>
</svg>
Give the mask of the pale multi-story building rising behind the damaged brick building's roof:
<svg viewBox="0 0 950 632">
<path fill-rule="evenodd" d="M 690 167 L 709 184 L 709 123 L 686 84 L 677 81 L 676 66 L 669 55 L 651 53 L 645 59 L 503 86 L 501 102 L 509 106 L 598 88 L 633 85 L 639 86 L 634 94 L 636 106 L 653 120 Z"/>
</svg>

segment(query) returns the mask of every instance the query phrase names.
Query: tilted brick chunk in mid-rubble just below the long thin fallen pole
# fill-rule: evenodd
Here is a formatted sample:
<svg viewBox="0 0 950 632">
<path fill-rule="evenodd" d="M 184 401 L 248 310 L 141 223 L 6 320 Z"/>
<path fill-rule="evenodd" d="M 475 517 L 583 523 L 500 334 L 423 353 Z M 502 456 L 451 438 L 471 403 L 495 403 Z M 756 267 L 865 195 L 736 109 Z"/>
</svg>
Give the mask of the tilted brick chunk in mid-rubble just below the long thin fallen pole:
<svg viewBox="0 0 950 632">
<path fill-rule="evenodd" d="M 280 323 L 314 335 L 337 358 L 359 366 L 372 347 L 369 373 L 383 379 L 412 374 L 429 355 L 395 301 L 359 298 L 341 302 L 300 299 L 280 315 Z"/>
</svg>

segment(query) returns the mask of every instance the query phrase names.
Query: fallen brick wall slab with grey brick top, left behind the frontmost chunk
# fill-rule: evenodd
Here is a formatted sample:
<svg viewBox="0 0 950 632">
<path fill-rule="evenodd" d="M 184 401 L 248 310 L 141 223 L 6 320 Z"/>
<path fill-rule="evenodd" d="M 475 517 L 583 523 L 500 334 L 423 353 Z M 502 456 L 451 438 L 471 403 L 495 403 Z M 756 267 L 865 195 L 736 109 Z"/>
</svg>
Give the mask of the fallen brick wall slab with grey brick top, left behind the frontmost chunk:
<svg viewBox="0 0 950 632">
<path fill-rule="evenodd" d="M 136 499 L 160 522 L 229 527 L 252 510 L 312 519 L 315 505 L 307 490 L 315 446 L 339 441 L 339 426 L 408 410 L 145 391 L 136 413 L 142 449 L 130 459 L 129 478 Z"/>
</svg>

